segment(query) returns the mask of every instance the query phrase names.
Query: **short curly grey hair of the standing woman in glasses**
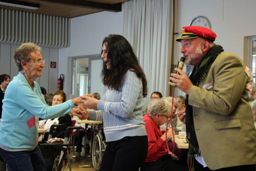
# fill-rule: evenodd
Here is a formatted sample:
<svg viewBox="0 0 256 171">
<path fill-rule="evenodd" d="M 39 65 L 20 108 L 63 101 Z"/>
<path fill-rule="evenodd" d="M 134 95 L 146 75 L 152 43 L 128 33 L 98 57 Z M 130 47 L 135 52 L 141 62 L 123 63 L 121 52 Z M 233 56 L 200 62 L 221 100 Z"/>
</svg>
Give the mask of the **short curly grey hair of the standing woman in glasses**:
<svg viewBox="0 0 256 171">
<path fill-rule="evenodd" d="M 31 51 L 39 51 L 41 52 L 41 47 L 33 44 L 33 43 L 23 43 L 15 50 L 14 53 L 14 63 L 16 66 L 18 66 L 18 70 L 21 71 L 23 69 L 21 65 L 21 61 L 30 61 Z"/>
</svg>

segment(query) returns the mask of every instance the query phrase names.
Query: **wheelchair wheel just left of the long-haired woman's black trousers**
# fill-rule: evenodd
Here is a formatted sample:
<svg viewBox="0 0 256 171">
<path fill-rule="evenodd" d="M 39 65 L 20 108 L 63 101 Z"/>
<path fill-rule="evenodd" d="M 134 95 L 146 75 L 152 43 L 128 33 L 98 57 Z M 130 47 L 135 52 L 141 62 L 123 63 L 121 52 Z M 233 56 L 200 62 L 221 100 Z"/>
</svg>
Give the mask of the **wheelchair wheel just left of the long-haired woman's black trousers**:
<svg viewBox="0 0 256 171">
<path fill-rule="evenodd" d="M 102 141 L 102 134 L 97 133 L 92 142 L 92 164 L 93 167 L 99 171 L 102 162 L 102 156 L 105 152 L 105 142 Z"/>
</svg>

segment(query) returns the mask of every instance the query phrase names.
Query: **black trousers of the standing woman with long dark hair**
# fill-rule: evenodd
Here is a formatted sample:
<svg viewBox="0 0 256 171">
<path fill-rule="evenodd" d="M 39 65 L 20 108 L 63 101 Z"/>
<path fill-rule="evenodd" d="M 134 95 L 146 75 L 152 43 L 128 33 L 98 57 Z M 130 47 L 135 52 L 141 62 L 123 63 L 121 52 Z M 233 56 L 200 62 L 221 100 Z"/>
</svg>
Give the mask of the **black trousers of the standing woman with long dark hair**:
<svg viewBox="0 0 256 171">
<path fill-rule="evenodd" d="M 127 136 L 107 142 L 100 171 L 138 171 L 148 152 L 147 136 Z"/>
</svg>

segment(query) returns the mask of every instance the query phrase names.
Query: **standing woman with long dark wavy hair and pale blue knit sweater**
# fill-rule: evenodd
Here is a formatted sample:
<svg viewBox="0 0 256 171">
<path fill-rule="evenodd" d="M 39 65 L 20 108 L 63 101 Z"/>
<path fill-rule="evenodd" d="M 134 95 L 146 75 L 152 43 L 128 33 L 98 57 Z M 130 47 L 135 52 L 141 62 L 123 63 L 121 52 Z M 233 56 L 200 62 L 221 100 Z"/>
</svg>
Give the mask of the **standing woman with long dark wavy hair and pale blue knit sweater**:
<svg viewBox="0 0 256 171">
<path fill-rule="evenodd" d="M 90 120 L 103 120 L 107 147 L 100 171 L 138 171 L 146 159 L 147 133 L 142 118 L 142 98 L 147 81 L 129 42 L 109 35 L 102 43 L 102 82 L 108 86 L 101 100 L 83 96 Z"/>
</svg>

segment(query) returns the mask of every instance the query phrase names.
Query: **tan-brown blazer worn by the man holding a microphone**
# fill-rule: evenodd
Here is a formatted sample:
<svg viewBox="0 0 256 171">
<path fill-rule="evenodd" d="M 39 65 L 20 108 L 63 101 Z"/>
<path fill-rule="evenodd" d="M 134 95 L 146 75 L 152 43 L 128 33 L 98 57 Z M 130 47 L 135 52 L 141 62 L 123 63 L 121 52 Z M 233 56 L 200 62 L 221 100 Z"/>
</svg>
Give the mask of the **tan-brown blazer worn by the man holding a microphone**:
<svg viewBox="0 0 256 171">
<path fill-rule="evenodd" d="M 256 163 L 256 133 L 244 62 L 222 52 L 199 86 L 192 86 L 195 133 L 211 170 Z"/>
</svg>

